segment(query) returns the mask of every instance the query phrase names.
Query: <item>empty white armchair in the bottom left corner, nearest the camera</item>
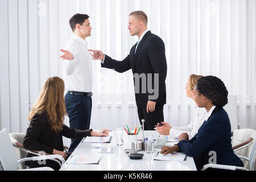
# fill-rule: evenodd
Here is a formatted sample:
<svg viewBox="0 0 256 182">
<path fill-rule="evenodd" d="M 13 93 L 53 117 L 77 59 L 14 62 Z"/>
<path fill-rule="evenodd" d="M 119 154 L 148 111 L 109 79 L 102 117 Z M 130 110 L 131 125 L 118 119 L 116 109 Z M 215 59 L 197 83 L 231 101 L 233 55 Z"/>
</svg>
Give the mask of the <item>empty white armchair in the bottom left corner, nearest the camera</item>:
<svg viewBox="0 0 256 182">
<path fill-rule="evenodd" d="M 63 156 L 61 155 L 44 155 L 44 156 L 35 156 L 32 158 L 23 158 L 18 160 L 18 157 L 15 153 L 14 146 L 10 140 L 10 137 L 7 133 L 6 129 L 3 129 L 0 131 L 0 167 L 4 171 L 14 171 L 18 170 L 18 164 L 21 164 L 25 161 L 29 160 L 55 160 L 58 159 L 57 161 L 61 162 L 61 164 L 65 163 L 65 160 L 63 159 Z M 49 167 L 40 167 L 40 168 L 31 168 L 31 169 L 24 169 L 24 170 L 53 170 L 52 168 Z"/>
</svg>

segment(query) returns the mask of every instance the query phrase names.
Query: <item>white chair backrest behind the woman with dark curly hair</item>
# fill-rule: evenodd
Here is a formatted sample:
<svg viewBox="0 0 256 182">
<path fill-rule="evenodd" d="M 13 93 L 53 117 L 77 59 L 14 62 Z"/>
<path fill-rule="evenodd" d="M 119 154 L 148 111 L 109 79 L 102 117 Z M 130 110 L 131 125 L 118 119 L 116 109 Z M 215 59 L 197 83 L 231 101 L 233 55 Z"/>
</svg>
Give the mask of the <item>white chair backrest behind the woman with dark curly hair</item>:
<svg viewBox="0 0 256 182">
<path fill-rule="evenodd" d="M 236 146 L 237 144 L 240 144 L 242 142 L 245 142 L 246 140 L 253 138 L 256 138 L 256 130 L 253 129 L 240 129 L 240 130 L 234 130 L 233 133 L 233 146 Z M 249 146 L 242 148 L 241 150 L 238 150 L 235 152 L 237 155 L 245 156 L 246 158 L 249 158 L 251 147 L 253 144 L 250 144 Z M 244 164 L 244 167 L 250 168 L 249 163 L 247 160 L 242 159 L 242 162 Z"/>
</svg>

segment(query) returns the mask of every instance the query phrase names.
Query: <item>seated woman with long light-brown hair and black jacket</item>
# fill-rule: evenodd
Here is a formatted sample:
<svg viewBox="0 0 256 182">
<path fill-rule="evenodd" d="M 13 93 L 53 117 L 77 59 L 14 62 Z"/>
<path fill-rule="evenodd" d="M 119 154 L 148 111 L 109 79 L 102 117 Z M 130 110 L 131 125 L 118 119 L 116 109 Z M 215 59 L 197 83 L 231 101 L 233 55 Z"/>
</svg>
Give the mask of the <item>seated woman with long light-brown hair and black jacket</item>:
<svg viewBox="0 0 256 182">
<path fill-rule="evenodd" d="M 26 136 L 23 146 L 28 150 L 43 151 L 48 154 L 59 154 L 64 159 L 70 154 L 66 154 L 63 148 L 62 137 L 83 138 L 87 136 L 108 136 L 109 130 L 101 131 L 76 130 L 64 125 L 64 117 L 67 115 L 64 100 L 64 81 L 59 77 L 48 78 L 40 93 L 38 101 L 32 107 L 28 119 Z M 105 133 L 101 133 L 101 132 Z M 35 156 L 27 154 L 27 157 Z M 37 161 L 25 162 L 28 167 L 48 166 L 55 170 L 60 166 L 52 160 L 46 160 L 46 164 L 39 165 Z"/>
</svg>

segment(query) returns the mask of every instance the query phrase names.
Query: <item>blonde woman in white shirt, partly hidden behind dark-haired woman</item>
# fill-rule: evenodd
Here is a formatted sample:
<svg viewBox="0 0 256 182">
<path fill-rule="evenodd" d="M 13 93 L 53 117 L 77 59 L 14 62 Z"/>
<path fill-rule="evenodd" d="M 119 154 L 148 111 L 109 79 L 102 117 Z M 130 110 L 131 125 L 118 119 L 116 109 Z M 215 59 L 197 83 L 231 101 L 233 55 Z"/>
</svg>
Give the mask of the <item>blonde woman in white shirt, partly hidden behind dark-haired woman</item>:
<svg viewBox="0 0 256 182">
<path fill-rule="evenodd" d="M 185 87 L 187 97 L 192 98 L 193 102 L 195 102 L 195 99 L 193 97 L 193 90 L 197 80 L 201 77 L 203 76 L 194 75 L 194 74 L 189 76 L 187 85 Z M 157 127 L 155 127 L 155 130 L 158 131 L 158 133 L 161 135 L 170 135 L 173 138 L 177 138 L 179 137 L 180 134 L 186 133 L 188 139 L 191 139 L 197 134 L 197 131 L 203 124 L 205 114 L 207 114 L 207 111 L 205 110 L 204 107 L 200 108 L 195 105 L 195 114 L 188 126 L 177 127 L 177 126 L 171 126 L 167 122 L 161 122 L 163 126 L 159 126 L 159 123 L 158 123 Z"/>
</svg>

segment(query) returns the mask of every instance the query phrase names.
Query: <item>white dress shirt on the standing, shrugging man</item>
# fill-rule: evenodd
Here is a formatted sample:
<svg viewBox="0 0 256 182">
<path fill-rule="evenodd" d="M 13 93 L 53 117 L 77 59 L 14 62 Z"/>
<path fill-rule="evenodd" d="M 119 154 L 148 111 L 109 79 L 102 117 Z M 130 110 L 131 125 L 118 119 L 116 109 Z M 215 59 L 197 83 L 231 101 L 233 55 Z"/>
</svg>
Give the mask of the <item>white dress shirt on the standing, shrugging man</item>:
<svg viewBox="0 0 256 182">
<path fill-rule="evenodd" d="M 66 44 L 65 50 L 74 56 L 72 60 L 64 60 L 65 89 L 92 92 L 92 57 L 88 52 L 88 43 L 79 36 L 73 35 L 73 38 Z"/>
</svg>

